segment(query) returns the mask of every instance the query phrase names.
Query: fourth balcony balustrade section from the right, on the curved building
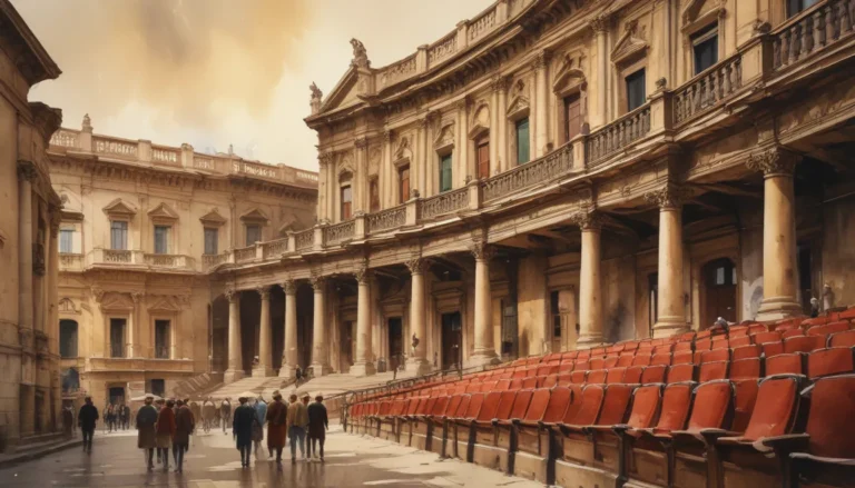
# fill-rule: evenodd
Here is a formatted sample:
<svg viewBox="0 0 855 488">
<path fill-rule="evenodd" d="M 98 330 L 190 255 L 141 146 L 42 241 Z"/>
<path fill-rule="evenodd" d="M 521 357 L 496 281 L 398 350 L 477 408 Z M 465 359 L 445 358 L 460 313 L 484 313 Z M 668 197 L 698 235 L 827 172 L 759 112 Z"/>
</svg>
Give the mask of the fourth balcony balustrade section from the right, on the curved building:
<svg viewBox="0 0 855 488">
<path fill-rule="evenodd" d="M 568 143 L 556 151 L 517 168 L 484 180 L 482 186 L 484 201 L 514 195 L 535 185 L 567 175 L 573 168 L 573 148 Z"/>
</svg>

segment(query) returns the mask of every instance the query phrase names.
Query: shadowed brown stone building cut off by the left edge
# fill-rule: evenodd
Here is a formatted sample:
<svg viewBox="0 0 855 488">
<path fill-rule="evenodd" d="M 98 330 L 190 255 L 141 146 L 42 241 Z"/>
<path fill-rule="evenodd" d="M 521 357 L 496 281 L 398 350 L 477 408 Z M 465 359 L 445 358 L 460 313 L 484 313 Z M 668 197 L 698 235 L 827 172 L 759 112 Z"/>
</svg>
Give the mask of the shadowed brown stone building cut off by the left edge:
<svg viewBox="0 0 855 488">
<path fill-rule="evenodd" d="M 0 0 L 0 451 L 57 430 L 57 239 L 60 200 L 46 148 L 60 110 L 28 100 L 60 70 Z"/>
</svg>

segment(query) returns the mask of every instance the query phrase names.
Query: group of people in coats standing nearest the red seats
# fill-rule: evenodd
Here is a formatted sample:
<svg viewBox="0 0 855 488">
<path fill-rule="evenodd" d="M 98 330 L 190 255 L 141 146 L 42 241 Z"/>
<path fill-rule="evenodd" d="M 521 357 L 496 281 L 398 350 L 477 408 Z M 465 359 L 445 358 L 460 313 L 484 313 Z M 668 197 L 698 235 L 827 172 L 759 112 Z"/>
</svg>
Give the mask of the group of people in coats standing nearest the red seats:
<svg viewBox="0 0 855 488">
<path fill-rule="evenodd" d="M 330 420 L 324 398 L 318 395 L 311 405 L 309 398 L 308 394 L 305 394 L 301 401 L 296 395 L 292 395 L 289 402 L 286 402 L 278 390 L 274 391 L 273 401 L 269 405 L 265 404 L 261 397 L 252 406 L 247 397 L 238 398 L 240 405 L 235 409 L 232 434 L 240 451 L 240 466 L 249 467 L 253 446 L 255 446 L 255 457 L 258 458 L 265 424 L 267 424 L 267 456 L 272 458 L 275 452 L 276 462 L 282 462 L 286 438 L 291 440 L 292 464 L 297 461 L 297 448 L 305 461 L 314 457 L 323 462 L 324 441 Z"/>
</svg>

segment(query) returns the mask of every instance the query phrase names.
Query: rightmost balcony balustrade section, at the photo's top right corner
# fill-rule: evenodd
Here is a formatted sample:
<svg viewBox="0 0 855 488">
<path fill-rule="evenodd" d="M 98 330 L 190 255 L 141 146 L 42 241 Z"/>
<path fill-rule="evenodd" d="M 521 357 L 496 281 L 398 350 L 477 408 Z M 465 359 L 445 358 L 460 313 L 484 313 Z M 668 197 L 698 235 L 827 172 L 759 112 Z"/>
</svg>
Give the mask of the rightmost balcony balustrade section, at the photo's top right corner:
<svg viewBox="0 0 855 488">
<path fill-rule="evenodd" d="M 774 70 L 786 68 L 848 37 L 855 30 L 851 0 L 820 1 L 800 12 L 773 34 Z"/>
</svg>

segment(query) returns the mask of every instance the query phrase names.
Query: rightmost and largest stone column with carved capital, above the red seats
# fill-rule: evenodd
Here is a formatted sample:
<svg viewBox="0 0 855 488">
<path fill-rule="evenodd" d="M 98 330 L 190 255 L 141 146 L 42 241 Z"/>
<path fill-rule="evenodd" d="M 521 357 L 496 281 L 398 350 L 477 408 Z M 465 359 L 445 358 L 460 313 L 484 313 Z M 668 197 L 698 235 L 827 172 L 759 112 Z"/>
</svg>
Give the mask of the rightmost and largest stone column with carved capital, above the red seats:
<svg viewBox="0 0 855 488">
<path fill-rule="evenodd" d="M 793 171 L 800 156 L 774 148 L 748 158 L 763 171 L 763 301 L 757 320 L 802 313 L 796 267 L 796 196 Z"/>
</svg>

